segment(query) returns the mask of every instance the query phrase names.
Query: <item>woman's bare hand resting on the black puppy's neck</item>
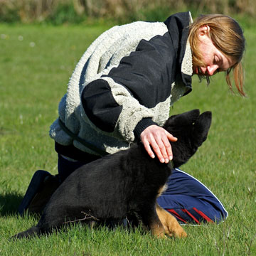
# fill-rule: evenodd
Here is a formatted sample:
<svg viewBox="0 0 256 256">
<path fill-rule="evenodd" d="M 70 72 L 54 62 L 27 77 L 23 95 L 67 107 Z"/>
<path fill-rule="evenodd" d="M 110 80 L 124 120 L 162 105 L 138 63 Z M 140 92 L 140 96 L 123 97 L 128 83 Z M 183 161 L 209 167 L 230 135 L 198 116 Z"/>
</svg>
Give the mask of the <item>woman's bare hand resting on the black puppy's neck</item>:
<svg viewBox="0 0 256 256">
<path fill-rule="evenodd" d="M 172 160 L 173 155 L 171 151 L 171 142 L 176 142 L 177 138 L 172 136 L 164 128 L 155 124 L 146 127 L 142 132 L 140 139 L 144 144 L 144 147 L 151 158 L 158 157 L 161 163 L 169 163 Z M 154 152 L 151 150 L 154 150 Z"/>
</svg>

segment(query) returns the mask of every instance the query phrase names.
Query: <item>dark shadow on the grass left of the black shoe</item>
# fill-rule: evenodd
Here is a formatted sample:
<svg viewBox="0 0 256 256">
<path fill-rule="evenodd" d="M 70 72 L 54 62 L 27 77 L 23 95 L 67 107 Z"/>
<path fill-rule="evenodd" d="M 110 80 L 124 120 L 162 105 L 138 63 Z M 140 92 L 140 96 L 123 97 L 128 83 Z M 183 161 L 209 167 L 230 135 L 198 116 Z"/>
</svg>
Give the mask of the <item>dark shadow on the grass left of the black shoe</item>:
<svg viewBox="0 0 256 256">
<path fill-rule="evenodd" d="M 18 206 L 23 196 L 16 191 L 0 194 L 0 215 L 18 214 Z"/>
</svg>

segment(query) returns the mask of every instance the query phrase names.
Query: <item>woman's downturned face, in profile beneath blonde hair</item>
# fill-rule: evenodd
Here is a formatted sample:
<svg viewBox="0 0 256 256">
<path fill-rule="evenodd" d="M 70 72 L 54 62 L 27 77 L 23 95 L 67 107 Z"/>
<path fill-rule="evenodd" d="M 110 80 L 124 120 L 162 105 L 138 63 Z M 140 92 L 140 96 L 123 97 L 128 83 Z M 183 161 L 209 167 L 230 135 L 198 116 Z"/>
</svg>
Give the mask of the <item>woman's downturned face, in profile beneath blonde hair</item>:
<svg viewBox="0 0 256 256">
<path fill-rule="evenodd" d="M 203 26 L 198 30 L 198 50 L 202 55 L 203 66 L 193 65 L 193 73 L 197 75 L 214 75 L 220 71 L 226 71 L 235 65 L 235 62 L 220 52 L 209 38 L 209 26 Z"/>
</svg>

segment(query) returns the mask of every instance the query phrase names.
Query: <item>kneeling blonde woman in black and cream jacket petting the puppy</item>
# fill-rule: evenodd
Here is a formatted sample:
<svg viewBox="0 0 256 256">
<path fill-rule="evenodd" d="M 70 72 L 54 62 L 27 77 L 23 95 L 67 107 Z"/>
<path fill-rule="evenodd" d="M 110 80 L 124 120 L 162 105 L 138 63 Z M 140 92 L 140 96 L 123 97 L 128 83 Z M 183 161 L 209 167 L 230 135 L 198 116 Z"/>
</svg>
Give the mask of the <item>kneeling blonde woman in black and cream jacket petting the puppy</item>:
<svg viewBox="0 0 256 256">
<path fill-rule="evenodd" d="M 170 106 L 191 92 L 193 74 L 208 80 L 223 71 L 232 90 L 233 70 L 235 86 L 245 95 L 244 50 L 242 29 L 223 15 L 200 16 L 193 22 L 189 12 L 178 13 L 164 23 L 139 21 L 103 33 L 82 55 L 60 101 L 60 118 L 50 127 L 58 152 L 58 181 L 82 164 L 139 140 L 149 156 L 168 163 L 169 141 L 177 138 L 161 125 Z M 56 179 L 37 171 L 19 212 L 28 206 L 33 211 L 32 199 L 43 204 L 35 194 L 39 189 L 38 195 L 45 197 L 50 191 L 46 181 Z M 159 204 L 184 223 L 218 222 L 228 216 L 206 186 L 178 169 Z"/>
</svg>

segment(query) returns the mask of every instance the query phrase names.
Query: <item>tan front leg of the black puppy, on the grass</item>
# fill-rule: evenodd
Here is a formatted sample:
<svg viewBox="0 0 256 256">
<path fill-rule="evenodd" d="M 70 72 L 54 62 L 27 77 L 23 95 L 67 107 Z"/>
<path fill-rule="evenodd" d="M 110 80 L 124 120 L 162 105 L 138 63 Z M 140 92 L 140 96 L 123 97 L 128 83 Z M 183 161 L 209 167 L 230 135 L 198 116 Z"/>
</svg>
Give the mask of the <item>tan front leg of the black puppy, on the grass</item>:
<svg viewBox="0 0 256 256">
<path fill-rule="evenodd" d="M 164 225 L 164 233 L 166 235 L 186 238 L 187 234 L 183 228 L 181 228 L 181 225 L 178 224 L 176 218 L 161 208 L 158 203 L 156 203 L 156 213 L 162 225 Z"/>
</svg>

